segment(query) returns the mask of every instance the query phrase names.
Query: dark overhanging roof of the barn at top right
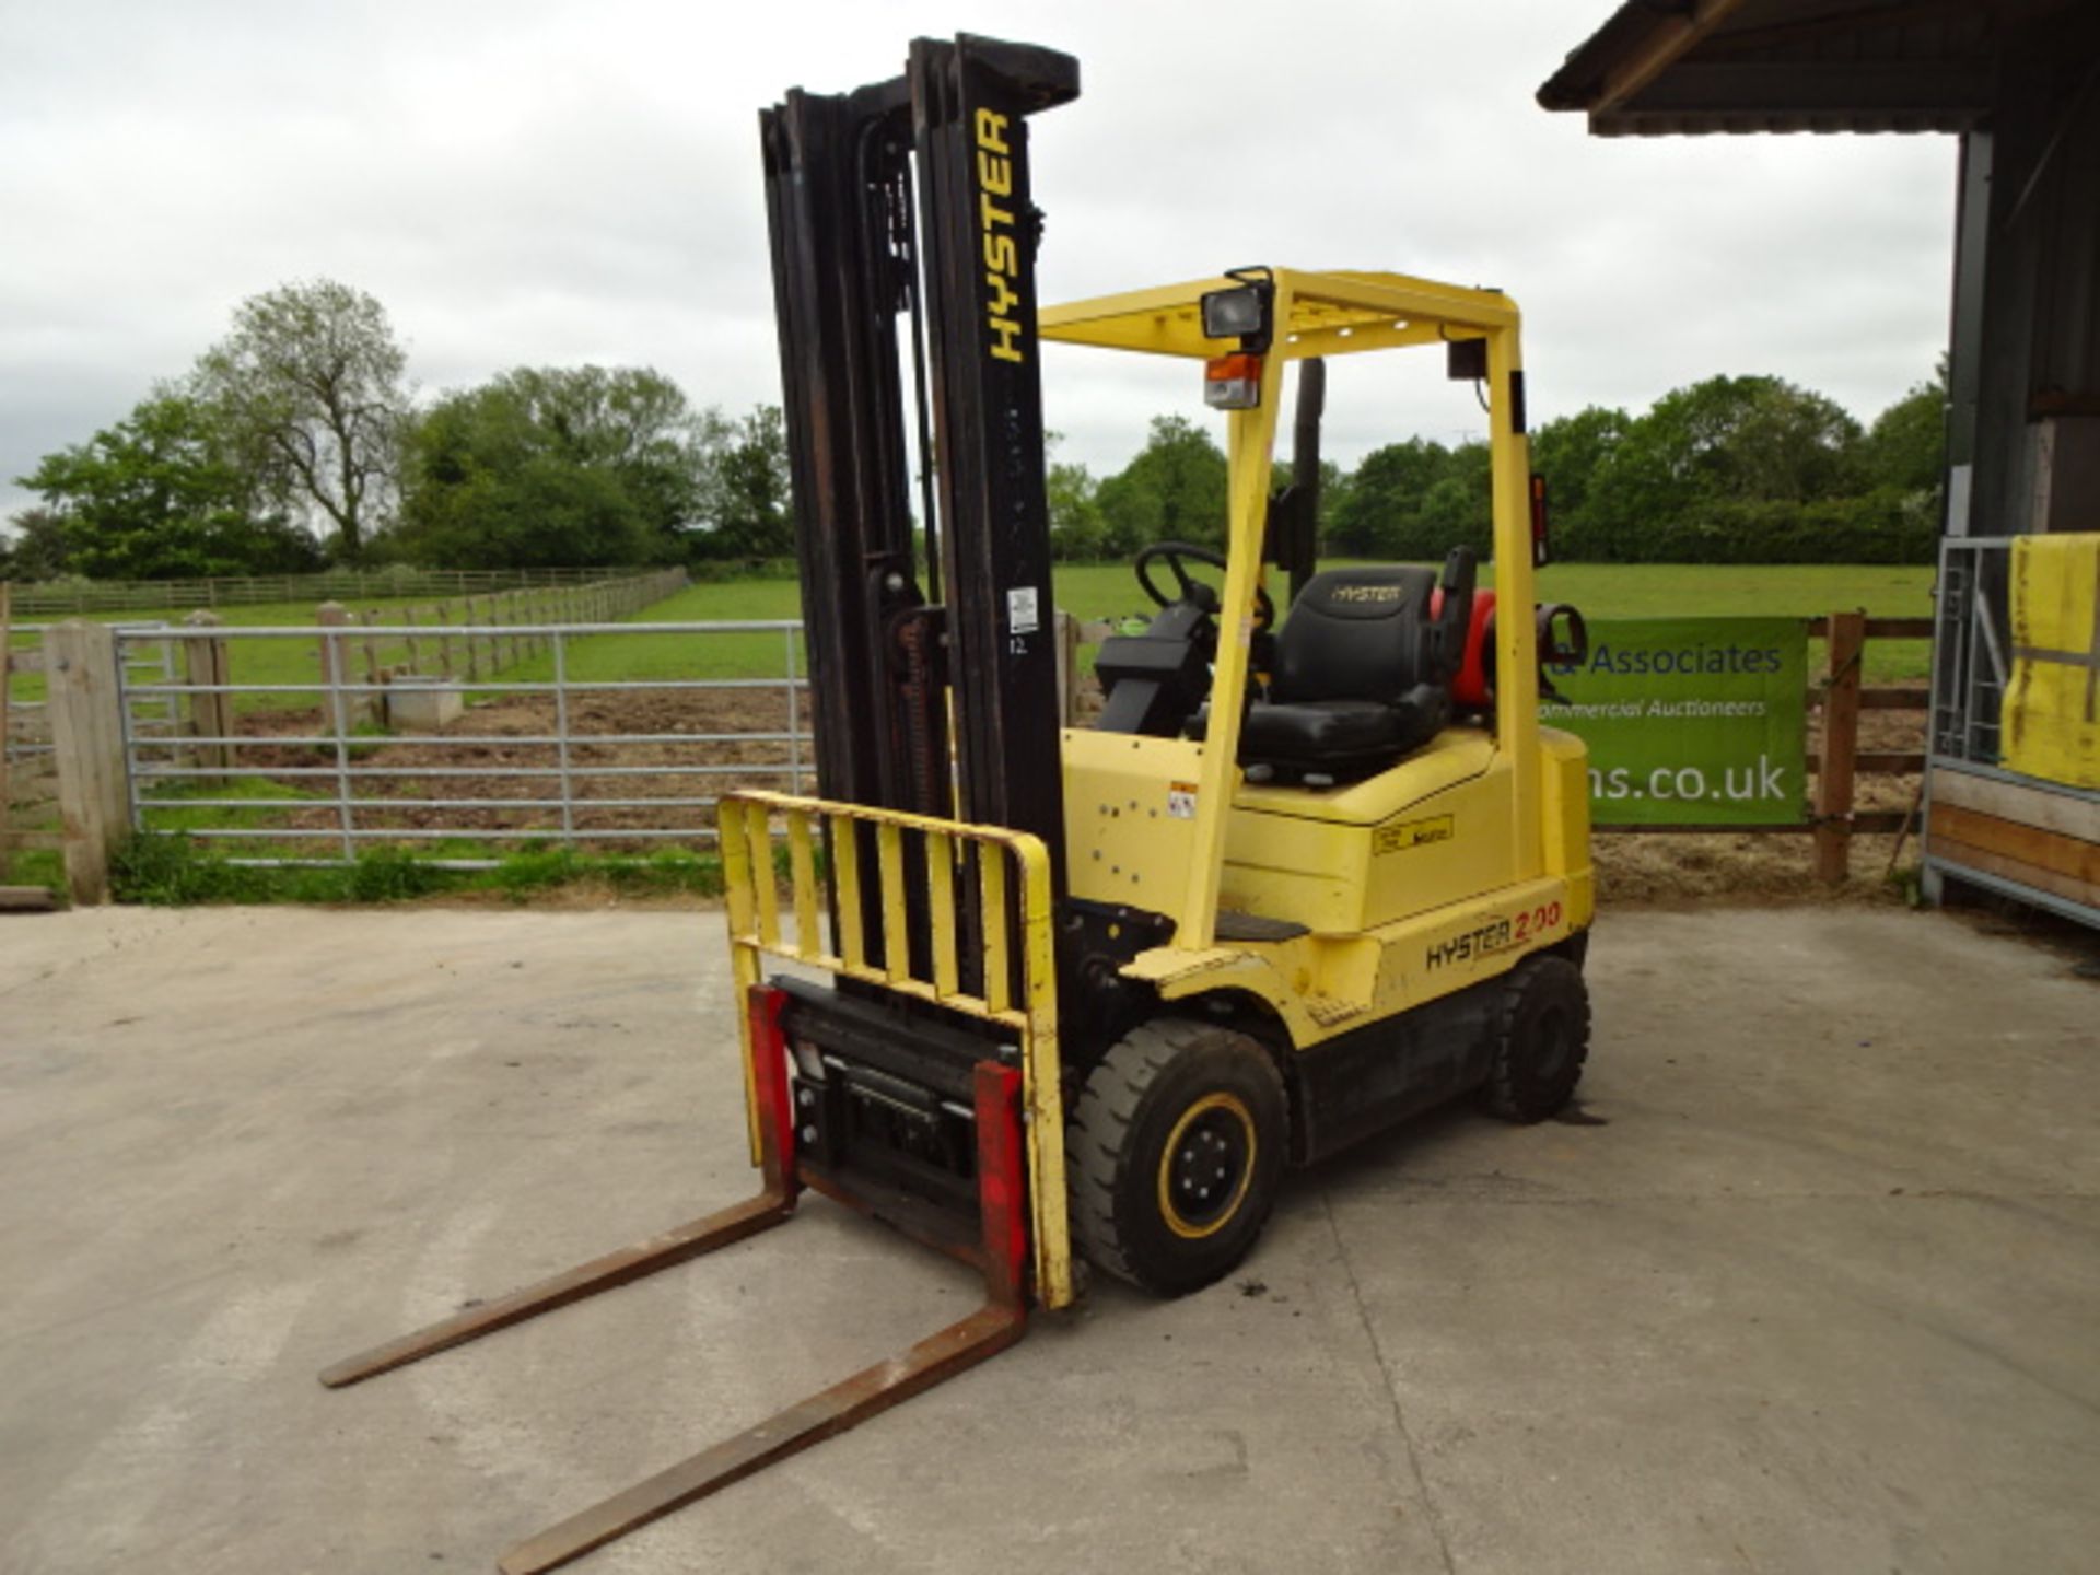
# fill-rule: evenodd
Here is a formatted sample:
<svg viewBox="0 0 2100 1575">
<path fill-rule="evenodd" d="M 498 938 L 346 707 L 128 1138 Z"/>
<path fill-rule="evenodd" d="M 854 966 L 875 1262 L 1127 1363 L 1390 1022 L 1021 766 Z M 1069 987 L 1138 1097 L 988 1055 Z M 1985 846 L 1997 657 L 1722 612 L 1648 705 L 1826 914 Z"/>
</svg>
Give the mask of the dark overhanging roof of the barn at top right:
<svg viewBox="0 0 2100 1575">
<path fill-rule="evenodd" d="M 2092 0 L 1625 0 L 1548 82 L 1598 136 L 1957 132 L 2008 29 Z"/>
</svg>

